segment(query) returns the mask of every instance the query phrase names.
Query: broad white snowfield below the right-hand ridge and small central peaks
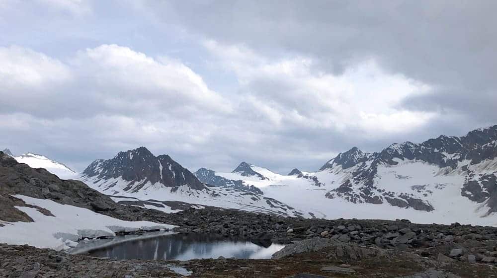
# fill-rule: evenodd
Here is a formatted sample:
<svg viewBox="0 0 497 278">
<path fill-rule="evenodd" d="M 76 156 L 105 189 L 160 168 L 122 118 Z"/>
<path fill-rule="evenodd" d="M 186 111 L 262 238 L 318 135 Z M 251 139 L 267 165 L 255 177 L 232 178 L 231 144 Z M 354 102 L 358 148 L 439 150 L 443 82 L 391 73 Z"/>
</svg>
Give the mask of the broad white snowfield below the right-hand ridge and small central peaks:
<svg viewBox="0 0 497 278">
<path fill-rule="evenodd" d="M 351 179 L 352 173 L 359 166 L 343 169 L 334 165 L 331 169 L 318 172 L 302 172 L 306 176 L 315 176 L 321 186 L 316 186 L 309 179 L 297 175 L 280 175 L 262 167 L 251 166 L 257 173 L 264 173 L 268 179 L 257 176 L 242 176 L 239 173 L 218 173 L 216 175 L 233 180 L 243 180 L 247 185 L 254 185 L 264 192 L 264 196 L 277 199 L 290 207 L 306 212 L 305 217 L 314 215 L 318 218 L 359 218 L 359 219 L 409 219 L 416 223 L 440 223 L 497 226 L 497 213 L 486 215 L 485 203 L 476 203 L 461 196 L 461 188 L 465 177 L 461 167 L 469 161 L 462 162 L 460 167 L 446 173 L 447 169 L 439 168 L 423 161 L 394 159 L 398 165 L 379 165 L 374 179 L 375 185 L 386 192 L 405 193 L 415 198 L 428 201 L 433 211 L 404 209 L 384 204 L 351 203 L 341 198 L 329 199 L 325 194 L 336 189 L 343 181 Z M 469 165 L 470 169 L 483 173 L 493 173 L 497 169 L 497 161 L 484 161 L 477 165 Z M 352 186 L 355 190 L 361 184 Z M 488 209 L 488 208 L 487 208 Z"/>
</svg>

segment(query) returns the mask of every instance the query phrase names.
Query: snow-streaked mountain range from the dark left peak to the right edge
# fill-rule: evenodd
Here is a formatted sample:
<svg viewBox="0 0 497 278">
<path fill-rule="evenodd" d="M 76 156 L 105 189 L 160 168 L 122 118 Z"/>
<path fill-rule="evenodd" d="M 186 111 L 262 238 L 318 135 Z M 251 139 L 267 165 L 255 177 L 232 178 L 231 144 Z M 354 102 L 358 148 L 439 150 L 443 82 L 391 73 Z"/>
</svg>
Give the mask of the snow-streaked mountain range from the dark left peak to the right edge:
<svg viewBox="0 0 497 278">
<path fill-rule="evenodd" d="M 493 126 L 463 137 L 394 143 L 379 152 L 353 147 L 317 171 L 295 168 L 287 175 L 247 162 L 229 173 L 207 168 L 192 173 L 168 155 L 154 156 L 139 147 L 93 161 L 78 179 L 115 201 L 173 200 L 289 216 L 494 225 L 496 174 Z"/>
</svg>

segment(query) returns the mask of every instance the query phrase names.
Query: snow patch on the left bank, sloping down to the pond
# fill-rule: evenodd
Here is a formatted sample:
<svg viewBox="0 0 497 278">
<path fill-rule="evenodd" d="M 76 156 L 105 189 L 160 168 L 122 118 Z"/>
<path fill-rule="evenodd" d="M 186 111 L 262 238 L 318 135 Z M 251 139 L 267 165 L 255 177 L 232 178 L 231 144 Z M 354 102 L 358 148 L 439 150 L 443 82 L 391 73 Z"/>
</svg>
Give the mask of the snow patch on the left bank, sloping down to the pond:
<svg viewBox="0 0 497 278">
<path fill-rule="evenodd" d="M 174 227 L 149 221 L 123 221 L 89 209 L 61 205 L 51 200 L 23 195 L 15 197 L 22 199 L 26 204 L 48 209 L 55 217 L 46 216 L 33 208 L 16 207 L 28 214 L 34 222 L 2 222 L 4 226 L 0 227 L 0 242 L 3 243 L 65 250 L 83 237 L 112 236 L 118 231 Z"/>
</svg>

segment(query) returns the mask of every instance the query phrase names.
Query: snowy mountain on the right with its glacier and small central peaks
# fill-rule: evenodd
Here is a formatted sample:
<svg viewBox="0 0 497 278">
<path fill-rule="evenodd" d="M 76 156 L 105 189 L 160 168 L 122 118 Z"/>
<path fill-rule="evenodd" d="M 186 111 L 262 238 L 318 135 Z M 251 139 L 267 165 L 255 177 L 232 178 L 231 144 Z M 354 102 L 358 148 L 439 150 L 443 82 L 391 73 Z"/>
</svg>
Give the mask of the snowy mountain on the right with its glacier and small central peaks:
<svg viewBox="0 0 497 278">
<path fill-rule="evenodd" d="M 232 173 L 213 172 L 210 179 L 241 180 L 318 217 L 497 225 L 496 175 L 493 126 L 463 137 L 395 143 L 374 153 L 353 147 L 316 172 L 280 175 L 242 163 Z"/>
</svg>

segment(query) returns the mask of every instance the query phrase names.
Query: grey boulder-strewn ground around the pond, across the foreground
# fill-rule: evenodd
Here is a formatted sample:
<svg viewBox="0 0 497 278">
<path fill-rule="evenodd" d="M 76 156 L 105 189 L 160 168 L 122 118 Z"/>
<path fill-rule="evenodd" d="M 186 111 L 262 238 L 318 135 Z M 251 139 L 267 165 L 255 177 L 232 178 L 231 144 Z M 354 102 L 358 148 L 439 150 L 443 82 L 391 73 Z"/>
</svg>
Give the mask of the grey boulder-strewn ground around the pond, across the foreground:
<svg viewBox="0 0 497 278">
<path fill-rule="evenodd" d="M 136 208 L 139 209 L 140 208 Z M 140 210 L 141 211 L 141 210 Z M 183 233 L 286 243 L 272 260 L 118 261 L 0 245 L 1 277 L 497 277 L 497 228 L 407 220 L 283 218 L 226 209 L 162 214 Z M 309 274 L 309 275 L 304 275 Z M 312 276 L 312 275 L 314 276 Z"/>
</svg>

